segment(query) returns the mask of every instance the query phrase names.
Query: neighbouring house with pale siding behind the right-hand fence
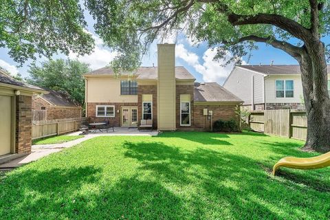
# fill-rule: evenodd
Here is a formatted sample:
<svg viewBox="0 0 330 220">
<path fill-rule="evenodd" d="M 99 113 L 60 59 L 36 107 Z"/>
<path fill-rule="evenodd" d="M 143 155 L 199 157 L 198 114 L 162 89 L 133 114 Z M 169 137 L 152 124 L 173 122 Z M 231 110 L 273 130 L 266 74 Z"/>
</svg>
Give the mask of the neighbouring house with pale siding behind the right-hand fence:
<svg viewBox="0 0 330 220">
<path fill-rule="evenodd" d="M 305 109 L 299 65 L 236 65 L 223 87 L 252 110 Z"/>
</svg>

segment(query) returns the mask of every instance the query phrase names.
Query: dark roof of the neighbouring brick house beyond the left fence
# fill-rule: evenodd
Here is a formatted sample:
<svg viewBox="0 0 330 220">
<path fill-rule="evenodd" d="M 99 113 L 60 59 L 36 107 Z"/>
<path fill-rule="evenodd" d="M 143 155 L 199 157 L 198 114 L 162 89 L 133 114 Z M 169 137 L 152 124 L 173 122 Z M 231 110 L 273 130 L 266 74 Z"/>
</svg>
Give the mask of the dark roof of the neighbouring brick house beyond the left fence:
<svg viewBox="0 0 330 220">
<path fill-rule="evenodd" d="M 45 94 L 41 96 L 50 104 L 54 104 L 56 106 L 65 106 L 65 107 L 78 107 L 78 104 L 70 98 L 69 94 L 65 91 L 54 91 L 51 89 L 45 89 L 49 91 L 49 94 Z"/>
</svg>

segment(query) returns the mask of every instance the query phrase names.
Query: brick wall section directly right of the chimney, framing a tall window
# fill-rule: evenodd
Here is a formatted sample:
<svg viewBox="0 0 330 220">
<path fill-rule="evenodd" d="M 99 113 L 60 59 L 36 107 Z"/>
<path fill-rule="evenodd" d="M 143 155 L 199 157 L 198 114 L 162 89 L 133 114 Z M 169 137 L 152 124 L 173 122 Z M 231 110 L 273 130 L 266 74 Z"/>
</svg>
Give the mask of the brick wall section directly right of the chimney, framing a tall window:
<svg viewBox="0 0 330 220">
<path fill-rule="evenodd" d="M 190 94 L 190 126 L 180 126 L 180 95 Z M 177 85 L 175 98 L 175 115 L 177 129 L 190 129 L 194 127 L 194 85 Z"/>
</svg>

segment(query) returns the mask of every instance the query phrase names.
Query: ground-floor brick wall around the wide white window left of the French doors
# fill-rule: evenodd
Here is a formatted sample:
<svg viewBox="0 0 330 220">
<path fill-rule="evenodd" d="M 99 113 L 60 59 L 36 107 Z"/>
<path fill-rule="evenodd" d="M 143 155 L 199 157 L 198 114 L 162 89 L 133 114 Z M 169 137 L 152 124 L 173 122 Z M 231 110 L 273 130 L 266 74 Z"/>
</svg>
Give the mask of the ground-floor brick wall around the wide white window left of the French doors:
<svg viewBox="0 0 330 220">
<path fill-rule="evenodd" d="M 114 105 L 115 117 L 96 117 L 96 105 Z M 104 120 L 109 120 L 111 125 L 120 126 L 120 107 L 122 106 L 137 106 L 137 103 L 136 102 L 88 102 L 87 118 L 91 122 L 102 122 Z"/>
</svg>

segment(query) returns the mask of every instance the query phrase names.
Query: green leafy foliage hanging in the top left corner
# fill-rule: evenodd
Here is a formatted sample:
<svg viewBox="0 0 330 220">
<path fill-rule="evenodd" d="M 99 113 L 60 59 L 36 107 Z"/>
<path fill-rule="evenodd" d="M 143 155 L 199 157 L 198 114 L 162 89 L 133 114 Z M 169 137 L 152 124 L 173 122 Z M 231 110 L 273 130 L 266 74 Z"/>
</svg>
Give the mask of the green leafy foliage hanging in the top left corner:
<svg viewBox="0 0 330 220">
<path fill-rule="evenodd" d="M 88 54 L 94 48 L 78 0 L 0 1 L 0 47 L 23 63 L 36 54 Z"/>
</svg>

